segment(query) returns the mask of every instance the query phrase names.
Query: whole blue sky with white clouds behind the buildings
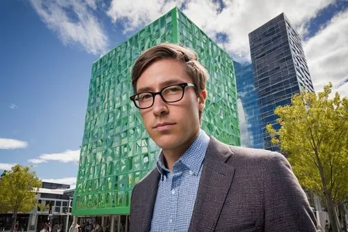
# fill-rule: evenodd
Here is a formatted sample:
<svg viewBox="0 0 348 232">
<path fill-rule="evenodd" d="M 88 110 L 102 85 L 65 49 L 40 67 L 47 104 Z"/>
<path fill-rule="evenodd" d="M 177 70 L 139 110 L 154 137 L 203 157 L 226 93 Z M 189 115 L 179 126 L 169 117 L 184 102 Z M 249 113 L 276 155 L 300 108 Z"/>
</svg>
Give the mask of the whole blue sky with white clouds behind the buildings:
<svg viewBox="0 0 348 232">
<path fill-rule="evenodd" d="M 241 62 L 248 32 L 284 11 L 315 89 L 331 81 L 348 95 L 348 1 L 3 0 L 0 169 L 33 165 L 44 180 L 74 184 L 92 63 L 173 6 Z"/>
</svg>

